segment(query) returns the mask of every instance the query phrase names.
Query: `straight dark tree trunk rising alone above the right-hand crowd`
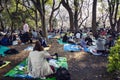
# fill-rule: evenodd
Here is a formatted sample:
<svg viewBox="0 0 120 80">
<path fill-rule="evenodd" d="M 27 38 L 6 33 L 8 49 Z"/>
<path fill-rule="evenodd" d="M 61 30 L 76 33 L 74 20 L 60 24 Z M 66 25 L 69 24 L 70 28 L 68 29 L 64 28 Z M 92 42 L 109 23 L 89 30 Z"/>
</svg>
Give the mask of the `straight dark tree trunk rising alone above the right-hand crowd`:
<svg viewBox="0 0 120 80">
<path fill-rule="evenodd" d="M 92 32 L 93 36 L 97 36 L 97 26 L 96 26 L 96 6 L 97 6 L 97 0 L 93 1 L 93 9 L 92 9 Z"/>
</svg>

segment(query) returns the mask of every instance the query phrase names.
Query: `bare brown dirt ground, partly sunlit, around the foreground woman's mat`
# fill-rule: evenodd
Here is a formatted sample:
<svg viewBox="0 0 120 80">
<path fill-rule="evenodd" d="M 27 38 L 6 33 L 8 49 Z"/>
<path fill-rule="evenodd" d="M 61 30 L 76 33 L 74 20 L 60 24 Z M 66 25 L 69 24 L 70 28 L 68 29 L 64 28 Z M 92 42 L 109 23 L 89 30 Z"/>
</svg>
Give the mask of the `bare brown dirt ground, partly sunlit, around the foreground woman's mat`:
<svg viewBox="0 0 120 80">
<path fill-rule="evenodd" d="M 51 39 L 49 43 L 51 44 L 49 50 L 51 54 L 57 52 L 59 56 L 67 57 L 72 80 L 115 80 L 106 71 L 107 57 L 93 56 L 84 52 L 64 52 L 63 45 L 59 45 L 55 39 Z M 3 75 L 28 56 L 28 51 L 21 50 L 29 45 L 32 44 L 13 46 L 20 51 L 19 54 L 0 57 L 0 60 L 12 62 L 5 68 L 0 69 L 0 80 L 27 80 L 3 77 Z"/>
</svg>

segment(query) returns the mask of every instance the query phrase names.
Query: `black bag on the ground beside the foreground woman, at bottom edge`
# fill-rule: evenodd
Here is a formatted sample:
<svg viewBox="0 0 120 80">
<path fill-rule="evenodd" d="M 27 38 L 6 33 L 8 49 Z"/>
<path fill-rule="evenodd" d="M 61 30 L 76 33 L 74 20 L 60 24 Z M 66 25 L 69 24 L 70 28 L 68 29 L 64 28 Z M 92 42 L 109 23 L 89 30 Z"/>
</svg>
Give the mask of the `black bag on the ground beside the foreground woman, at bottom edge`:
<svg viewBox="0 0 120 80">
<path fill-rule="evenodd" d="M 56 80 L 71 80 L 69 71 L 63 67 L 58 68 L 56 71 Z"/>
</svg>

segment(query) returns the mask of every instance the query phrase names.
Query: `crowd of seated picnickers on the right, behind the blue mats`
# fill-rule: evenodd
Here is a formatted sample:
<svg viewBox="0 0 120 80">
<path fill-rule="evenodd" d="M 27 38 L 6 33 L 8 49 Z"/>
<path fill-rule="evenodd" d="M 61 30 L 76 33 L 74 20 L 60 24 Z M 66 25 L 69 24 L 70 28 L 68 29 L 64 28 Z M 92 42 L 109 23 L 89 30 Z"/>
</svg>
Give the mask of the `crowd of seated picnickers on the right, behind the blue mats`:
<svg viewBox="0 0 120 80">
<path fill-rule="evenodd" d="M 104 34 L 103 34 L 104 32 Z M 97 53 L 109 53 L 110 47 L 115 44 L 115 36 L 105 31 L 99 31 L 98 37 L 94 37 L 92 32 L 82 30 L 77 32 L 67 32 L 61 37 L 63 42 L 80 45 L 83 49 L 96 46 Z"/>
</svg>

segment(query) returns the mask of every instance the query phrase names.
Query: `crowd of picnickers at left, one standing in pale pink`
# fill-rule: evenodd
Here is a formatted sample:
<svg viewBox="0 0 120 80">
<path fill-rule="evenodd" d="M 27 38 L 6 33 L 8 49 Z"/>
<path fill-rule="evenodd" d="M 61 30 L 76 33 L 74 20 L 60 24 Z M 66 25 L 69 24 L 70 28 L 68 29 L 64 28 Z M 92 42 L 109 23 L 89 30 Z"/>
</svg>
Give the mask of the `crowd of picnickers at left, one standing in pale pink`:
<svg viewBox="0 0 120 80">
<path fill-rule="evenodd" d="M 16 44 L 32 43 L 33 39 L 39 40 L 42 46 L 47 47 L 46 39 L 43 37 L 42 30 L 30 30 L 28 24 L 23 21 L 23 30 L 17 32 L 12 31 L 3 35 L 0 44 L 3 46 L 10 46 Z"/>
</svg>

